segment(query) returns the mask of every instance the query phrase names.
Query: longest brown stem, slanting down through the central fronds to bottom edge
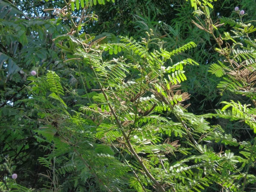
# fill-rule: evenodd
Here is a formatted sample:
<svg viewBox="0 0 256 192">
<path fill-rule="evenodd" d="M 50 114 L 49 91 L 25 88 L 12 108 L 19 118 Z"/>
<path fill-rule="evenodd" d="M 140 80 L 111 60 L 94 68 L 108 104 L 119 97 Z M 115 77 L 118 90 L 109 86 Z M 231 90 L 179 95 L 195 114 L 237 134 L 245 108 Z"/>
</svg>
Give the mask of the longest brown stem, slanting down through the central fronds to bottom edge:
<svg viewBox="0 0 256 192">
<path fill-rule="evenodd" d="M 93 73 L 97 77 L 97 74 L 94 70 L 94 68 L 92 67 Z M 103 96 L 105 97 L 105 100 L 108 102 L 108 96 L 105 93 L 105 89 L 104 87 L 102 87 L 102 84 L 99 82 L 99 87 L 102 91 Z M 146 166 L 144 165 L 143 161 L 140 159 L 140 157 L 138 156 L 138 154 L 136 153 L 136 151 L 134 150 L 130 139 L 128 137 L 128 135 L 125 133 L 125 131 L 122 128 L 122 124 L 120 122 L 120 120 L 118 119 L 118 116 L 116 115 L 116 112 L 114 111 L 114 109 L 112 108 L 111 104 L 108 102 L 108 107 L 111 110 L 111 113 L 113 114 L 115 120 L 116 120 L 116 124 L 118 125 L 119 129 L 122 131 L 122 135 L 124 136 L 126 143 L 128 145 L 129 150 L 131 151 L 131 153 L 134 155 L 134 157 L 136 158 L 136 160 L 138 161 L 138 163 L 140 164 L 140 166 L 142 167 L 142 169 L 144 170 L 145 174 L 153 181 L 153 183 L 157 186 L 157 188 L 161 191 L 161 192 L 166 192 L 166 190 L 163 188 L 163 186 L 153 177 L 153 175 L 151 175 L 151 173 L 148 171 L 148 169 L 146 168 Z"/>
</svg>

